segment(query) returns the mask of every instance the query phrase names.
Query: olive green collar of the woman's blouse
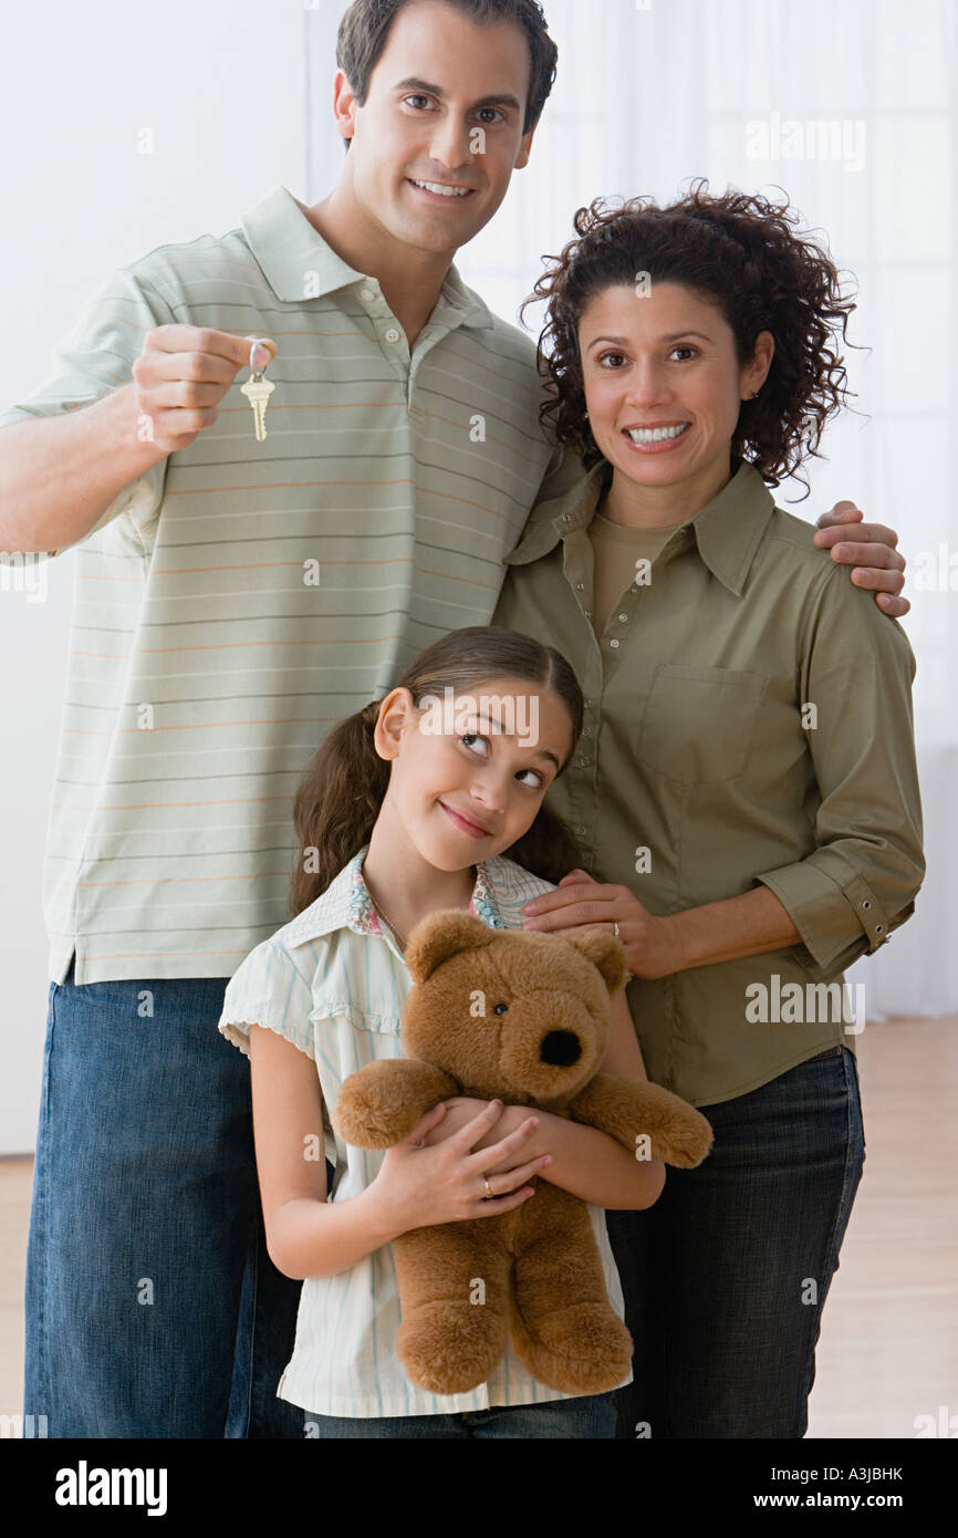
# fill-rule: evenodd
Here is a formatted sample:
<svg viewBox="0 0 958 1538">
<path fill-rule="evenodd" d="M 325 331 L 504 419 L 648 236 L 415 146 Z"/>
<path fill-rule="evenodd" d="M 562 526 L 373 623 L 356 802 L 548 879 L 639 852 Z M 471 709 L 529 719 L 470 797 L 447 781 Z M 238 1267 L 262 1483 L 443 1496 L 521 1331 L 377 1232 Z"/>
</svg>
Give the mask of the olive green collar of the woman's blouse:
<svg viewBox="0 0 958 1538">
<path fill-rule="evenodd" d="M 695 543 L 703 561 L 723 586 L 741 597 L 775 500 L 753 464 L 747 460 L 737 463 L 738 469 L 727 486 L 683 524 L 681 534 L 689 543 Z M 607 471 L 607 463 L 601 460 L 592 466 L 584 481 L 534 508 L 526 532 L 506 557 L 506 564 L 524 566 L 540 560 L 560 540 L 587 529 Z"/>
</svg>

